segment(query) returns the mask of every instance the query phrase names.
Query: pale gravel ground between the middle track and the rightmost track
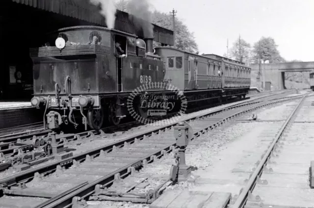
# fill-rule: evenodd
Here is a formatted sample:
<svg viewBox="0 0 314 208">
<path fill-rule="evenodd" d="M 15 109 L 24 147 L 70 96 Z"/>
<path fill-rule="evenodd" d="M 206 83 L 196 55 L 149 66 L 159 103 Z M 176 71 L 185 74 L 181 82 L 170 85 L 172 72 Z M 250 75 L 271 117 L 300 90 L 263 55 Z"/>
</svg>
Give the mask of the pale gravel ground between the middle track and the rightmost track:
<svg viewBox="0 0 314 208">
<path fill-rule="evenodd" d="M 273 118 L 279 117 L 280 119 L 283 117 L 281 114 L 285 112 L 286 117 L 288 116 L 288 112 L 293 110 L 291 105 L 296 104 L 296 102 L 290 102 L 287 104 L 280 104 L 275 108 L 277 110 L 270 109 L 260 109 L 257 111 L 259 114 L 267 115 L 273 114 Z M 278 109 L 282 109 L 278 111 Z M 245 117 L 247 115 L 244 115 Z M 278 118 L 277 118 L 278 120 Z M 265 125 L 267 127 L 270 126 L 280 126 L 281 124 L 274 125 L 274 123 L 278 122 L 267 122 Z M 221 151 L 227 151 L 228 147 L 226 144 L 235 142 L 239 139 L 245 138 L 245 135 L 249 132 L 253 132 L 256 128 L 261 126 L 260 122 L 251 122 L 251 123 L 228 123 L 222 127 L 216 128 L 213 131 L 209 131 L 208 133 L 198 137 L 196 140 L 190 142 L 186 149 L 186 164 L 191 165 L 194 169 L 206 171 L 207 168 L 213 167 L 220 162 L 219 153 Z M 265 128 L 265 127 L 264 127 Z M 247 138 L 246 138 L 247 139 Z M 229 145 L 230 146 L 230 145 Z M 239 147 L 241 149 L 241 147 Z M 175 163 L 173 153 L 170 153 L 166 157 L 162 157 L 157 162 L 152 164 L 148 164 L 145 168 L 139 171 L 139 174 L 152 174 L 158 173 L 165 176 L 169 176 L 169 171 L 171 165 Z M 192 171 L 191 178 L 195 178 L 194 174 L 197 171 Z M 191 190 L 195 188 L 196 185 L 191 182 L 180 182 L 173 186 L 168 186 L 166 190 L 175 189 L 175 190 Z M 88 202 L 89 205 L 93 205 L 95 208 L 120 208 L 120 207 L 128 207 L 128 208 L 148 208 L 148 205 L 144 204 L 133 204 L 130 202 Z"/>
</svg>

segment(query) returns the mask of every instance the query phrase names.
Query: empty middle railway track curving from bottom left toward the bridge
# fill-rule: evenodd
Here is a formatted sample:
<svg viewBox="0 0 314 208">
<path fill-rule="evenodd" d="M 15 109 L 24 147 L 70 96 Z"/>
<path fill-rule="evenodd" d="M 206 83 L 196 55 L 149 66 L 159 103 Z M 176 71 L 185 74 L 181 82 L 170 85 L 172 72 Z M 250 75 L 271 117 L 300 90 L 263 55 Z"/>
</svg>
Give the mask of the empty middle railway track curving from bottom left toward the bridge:
<svg viewBox="0 0 314 208">
<path fill-rule="evenodd" d="M 185 121 L 193 128 L 194 138 L 196 138 L 236 115 L 300 97 L 302 96 L 277 99 L 271 102 L 246 103 L 204 113 Z M 104 193 L 103 188 L 112 183 L 119 184 L 121 179 L 133 175 L 135 169 L 173 151 L 175 142 L 171 128 L 175 125 L 170 124 L 149 130 L 80 155 L 2 179 L 0 187 L 5 196 L 0 198 L 0 204 L 6 205 L 4 207 L 19 207 L 23 202 L 24 206 L 36 205 L 36 208 L 75 207 L 81 203 L 80 199 L 89 196 L 95 197 L 93 195 L 95 193 Z M 161 180 L 159 186 L 167 181 L 167 179 Z M 133 186 L 129 187 L 130 190 Z M 39 198 L 17 198 L 11 195 Z M 136 200 L 152 202 L 157 197 L 156 192 L 145 196 L 144 199 L 141 196 Z"/>
</svg>

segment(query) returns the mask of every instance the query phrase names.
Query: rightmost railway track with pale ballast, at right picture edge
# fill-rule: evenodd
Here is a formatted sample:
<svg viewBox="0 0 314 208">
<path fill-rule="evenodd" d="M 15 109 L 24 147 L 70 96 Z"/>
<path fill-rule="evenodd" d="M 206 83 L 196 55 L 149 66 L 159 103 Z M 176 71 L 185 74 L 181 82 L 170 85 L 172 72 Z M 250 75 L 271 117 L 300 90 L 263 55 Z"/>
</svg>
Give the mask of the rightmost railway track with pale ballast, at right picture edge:
<svg viewBox="0 0 314 208">
<path fill-rule="evenodd" d="M 313 97 L 304 97 L 295 106 L 267 148 L 246 186 L 234 199 L 232 208 L 314 207 L 311 172 L 313 155 Z"/>
</svg>

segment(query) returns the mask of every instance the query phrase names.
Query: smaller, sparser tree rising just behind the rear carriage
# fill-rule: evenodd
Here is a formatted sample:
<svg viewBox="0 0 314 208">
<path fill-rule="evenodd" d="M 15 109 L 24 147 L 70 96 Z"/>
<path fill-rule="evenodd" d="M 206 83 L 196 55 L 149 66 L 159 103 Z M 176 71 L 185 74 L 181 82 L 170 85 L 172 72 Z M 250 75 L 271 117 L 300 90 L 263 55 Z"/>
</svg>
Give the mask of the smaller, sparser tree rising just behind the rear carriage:
<svg viewBox="0 0 314 208">
<path fill-rule="evenodd" d="M 250 62 L 251 45 L 245 40 L 239 38 L 230 49 L 231 58 L 248 63 Z"/>
</svg>

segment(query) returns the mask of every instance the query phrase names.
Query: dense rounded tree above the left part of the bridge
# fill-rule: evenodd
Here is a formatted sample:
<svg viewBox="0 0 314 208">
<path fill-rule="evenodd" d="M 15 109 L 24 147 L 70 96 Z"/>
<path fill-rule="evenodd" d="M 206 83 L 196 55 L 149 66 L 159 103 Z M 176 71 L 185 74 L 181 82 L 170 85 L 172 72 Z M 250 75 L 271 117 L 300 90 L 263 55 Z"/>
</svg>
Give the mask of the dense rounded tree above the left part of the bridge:
<svg viewBox="0 0 314 208">
<path fill-rule="evenodd" d="M 254 62 L 259 63 L 259 60 L 269 61 L 269 63 L 284 62 L 285 59 L 281 57 L 277 47 L 272 37 L 262 37 L 253 47 Z"/>
</svg>

